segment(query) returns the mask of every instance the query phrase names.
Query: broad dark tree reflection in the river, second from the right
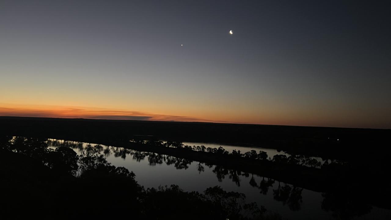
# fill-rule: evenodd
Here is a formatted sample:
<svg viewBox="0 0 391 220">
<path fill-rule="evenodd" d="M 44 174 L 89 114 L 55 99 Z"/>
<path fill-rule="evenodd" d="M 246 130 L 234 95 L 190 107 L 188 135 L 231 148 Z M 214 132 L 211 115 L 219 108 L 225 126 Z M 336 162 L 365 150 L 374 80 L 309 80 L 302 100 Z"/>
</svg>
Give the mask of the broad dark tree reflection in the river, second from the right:
<svg viewBox="0 0 391 220">
<path fill-rule="evenodd" d="M 303 188 L 297 188 L 296 186 L 289 186 L 288 184 L 284 184 L 281 186 L 280 182 L 278 182 L 278 188 L 273 189 L 273 198 L 274 200 L 280 201 L 283 205 L 288 204 L 289 209 L 292 211 L 300 210 L 300 204 L 303 202 L 301 197 L 301 192 Z"/>
</svg>

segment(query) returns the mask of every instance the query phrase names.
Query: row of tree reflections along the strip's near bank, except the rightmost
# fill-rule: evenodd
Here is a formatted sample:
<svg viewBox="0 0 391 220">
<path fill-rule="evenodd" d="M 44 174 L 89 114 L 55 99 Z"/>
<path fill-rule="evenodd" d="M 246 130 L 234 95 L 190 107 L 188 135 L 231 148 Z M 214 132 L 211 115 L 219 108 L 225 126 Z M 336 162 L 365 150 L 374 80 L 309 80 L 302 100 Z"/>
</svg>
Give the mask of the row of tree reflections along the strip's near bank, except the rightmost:
<svg viewBox="0 0 391 220">
<path fill-rule="evenodd" d="M 83 154 L 84 152 L 86 152 L 89 155 L 104 155 L 106 157 L 108 157 L 109 155 L 114 155 L 114 157 L 119 157 L 124 160 L 127 158 L 127 155 L 130 155 L 136 162 L 140 162 L 142 160 L 147 159 L 149 166 L 156 166 L 164 163 L 168 166 L 174 165 L 177 170 L 187 170 L 190 164 L 192 164 L 193 162 L 192 160 L 187 160 L 170 155 L 161 155 L 158 153 L 129 150 L 112 146 L 102 146 L 100 144 L 94 145 L 81 142 L 59 141 L 54 139 L 48 139 L 47 144 L 49 147 L 66 146 L 69 148 L 77 149 L 79 150 L 79 154 Z M 170 144 L 177 143 L 173 142 Z M 249 155 L 249 157 L 251 157 L 251 155 Z M 205 171 L 205 166 L 208 168 L 212 168 L 212 173 L 215 174 L 219 182 L 222 182 L 224 179 L 230 179 L 238 187 L 241 186 L 242 177 L 248 178 L 250 176 L 249 173 L 244 173 L 239 170 L 227 169 L 223 166 L 215 166 L 213 164 L 204 164 L 201 162 L 198 162 L 195 167 L 198 173 L 201 174 Z M 265 177 L 262 177 L 262 180 L 258 184 L 255 180 L 254 175 L 251 174 L 251 178 L 249 179 L 248 184 L 253 188 L 259 188 L 260 193 L 262 195 L 267 195 L 269 188 L 273 187 L 274 182 L 275 180 L 273 179 L 267 179 Z M 283 186 L 281 186 L 281 183 L 279 182 L 278 187 L 276 189 L 273 189 L 273 198 L 276 201 L 282 202 L 283 205 L 288 204 L 289 209 L 291 209 L 292 211 L 297 211 L 300 210 L 300 204 L 302 202 L 302 191 L 302 188 L 290 186 L 289 184 L 283 184 Z"/>
</svg>

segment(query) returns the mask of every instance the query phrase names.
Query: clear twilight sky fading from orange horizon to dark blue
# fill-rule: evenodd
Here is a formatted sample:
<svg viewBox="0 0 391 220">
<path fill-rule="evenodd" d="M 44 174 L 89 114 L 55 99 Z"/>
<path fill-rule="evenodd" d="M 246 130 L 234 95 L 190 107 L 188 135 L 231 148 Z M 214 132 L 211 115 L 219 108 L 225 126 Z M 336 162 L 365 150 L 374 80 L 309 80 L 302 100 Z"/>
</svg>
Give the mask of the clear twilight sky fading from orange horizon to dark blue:
<svg viewBox="0 0 391 220">
<path fill-rule="evenodd" d="M 0 115 L 391 128 L 390 27 L 381 1 L 0 0 Z"/>
</svg>

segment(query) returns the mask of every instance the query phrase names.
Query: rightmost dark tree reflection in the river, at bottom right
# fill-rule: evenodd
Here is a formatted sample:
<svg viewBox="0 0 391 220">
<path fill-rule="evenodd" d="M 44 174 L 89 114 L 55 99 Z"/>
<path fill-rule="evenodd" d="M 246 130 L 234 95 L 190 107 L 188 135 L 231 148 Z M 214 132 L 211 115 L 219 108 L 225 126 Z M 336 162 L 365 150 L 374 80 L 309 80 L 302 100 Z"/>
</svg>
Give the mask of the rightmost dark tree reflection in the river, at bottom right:
<svg viewBox="0 0 391 220">
<path fill-rule="evenodd" d="M 322 209 L 332 211 L 334 218 L 343 220 L 362 216 L 371 211 L 372 207 L 361 202 L 362 200 L 349 198 L 344 194 L 345 192 L 322 193 Z"/>
</svg>

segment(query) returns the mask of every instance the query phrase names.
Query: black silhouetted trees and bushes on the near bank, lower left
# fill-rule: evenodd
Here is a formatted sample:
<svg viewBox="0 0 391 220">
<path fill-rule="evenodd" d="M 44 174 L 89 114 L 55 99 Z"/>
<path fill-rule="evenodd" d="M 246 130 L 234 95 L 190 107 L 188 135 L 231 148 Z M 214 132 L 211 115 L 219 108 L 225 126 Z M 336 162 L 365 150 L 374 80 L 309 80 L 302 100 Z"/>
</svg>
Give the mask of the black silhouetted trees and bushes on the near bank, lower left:
<svg viewBox="0 0 391 220">
<path fill-rule="evenodd" d="M 144 189 L 133 172 L 112 166 L 93 148 L 77 156 L 72 148 L 49 149 L 45 141 L 1 137 L 2 216 L 280 219 L 217 186 L 202 194 L 176 185 Z"/>
</svg>

